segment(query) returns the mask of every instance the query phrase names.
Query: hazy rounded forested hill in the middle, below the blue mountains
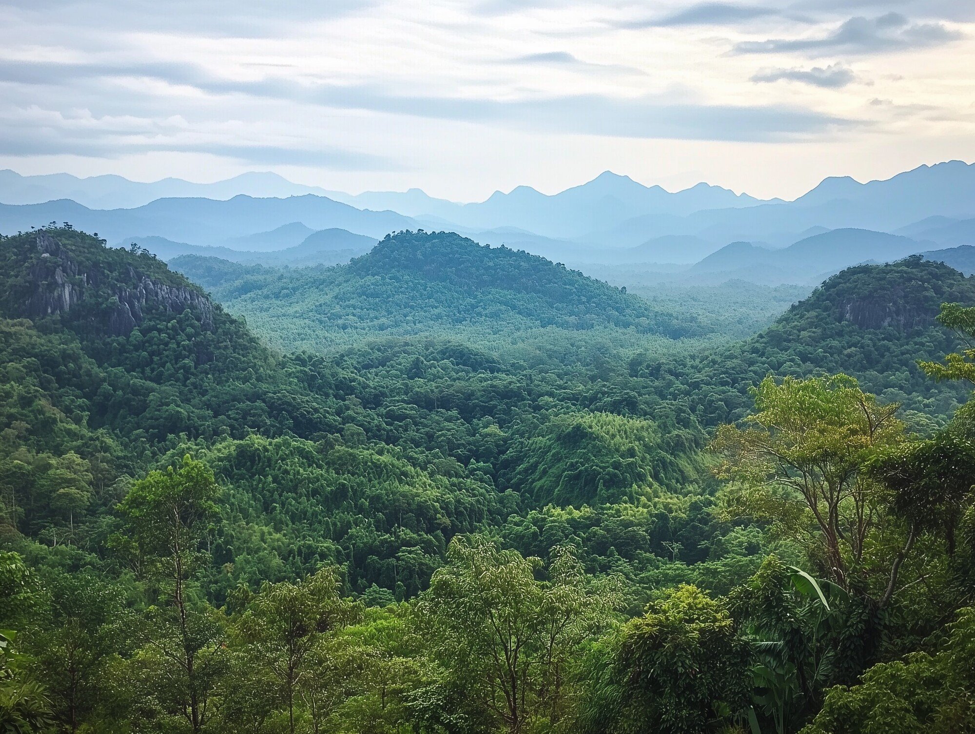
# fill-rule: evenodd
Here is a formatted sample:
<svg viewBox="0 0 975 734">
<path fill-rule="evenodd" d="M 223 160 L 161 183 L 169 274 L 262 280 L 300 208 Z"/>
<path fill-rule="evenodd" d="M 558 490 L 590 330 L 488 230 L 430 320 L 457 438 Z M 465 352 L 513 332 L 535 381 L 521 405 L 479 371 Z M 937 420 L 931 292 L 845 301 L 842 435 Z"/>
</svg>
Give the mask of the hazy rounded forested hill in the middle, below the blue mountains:
<svg viewBox="0 0 975 734">
<path fill-rule="evenodd" d="M 448 232 L 400 232 L 333 268 L 230 273 L 192 257 L 173 265 L 200 277 L 285 351 L 328 351 L 376 336 L 462 336 L 483 344 L 539 329 L 612 329 L 614 339 L 634 341 L 703 331 L 692 317 L 663 312 L 564 265 Z"/>
</svg>

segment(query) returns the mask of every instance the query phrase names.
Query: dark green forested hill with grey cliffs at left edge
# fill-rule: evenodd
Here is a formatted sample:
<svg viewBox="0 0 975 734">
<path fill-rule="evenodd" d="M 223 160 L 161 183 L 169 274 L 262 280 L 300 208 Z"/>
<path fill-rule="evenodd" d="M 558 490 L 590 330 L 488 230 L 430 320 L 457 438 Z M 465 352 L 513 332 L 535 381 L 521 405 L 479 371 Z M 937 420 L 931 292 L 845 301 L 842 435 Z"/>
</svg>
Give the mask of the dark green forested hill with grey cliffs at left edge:
<svg viewBox="0 0 975 734">
<path fill-rule="evenodd" d="M 0 317 L 19 375 L 7 397 L 22 393 L 8 418 L 38 445 L 80 451 L 72 442 L 104 429 L 130 461 L 180 435 L 311 434 L 334 420 L 248 328 L 145 251 L 70 229 L 3 238 Z"/>
</svg>

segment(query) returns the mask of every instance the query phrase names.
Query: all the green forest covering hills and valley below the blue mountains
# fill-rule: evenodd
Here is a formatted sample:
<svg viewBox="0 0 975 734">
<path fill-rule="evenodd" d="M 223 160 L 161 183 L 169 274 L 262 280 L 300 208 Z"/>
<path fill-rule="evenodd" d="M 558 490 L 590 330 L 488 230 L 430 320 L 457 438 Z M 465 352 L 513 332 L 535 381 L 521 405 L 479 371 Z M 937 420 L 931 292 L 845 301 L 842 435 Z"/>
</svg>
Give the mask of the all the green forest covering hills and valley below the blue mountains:
<svg viewBox="0 0 975 734">
<path fill-rule="evenodd" d="M 181 265 L 282 354 L 144 251 L 0 262 L 0 731 L 975 726 L 942 264 L 735 343 L 453 235 Z"/>
</svg>

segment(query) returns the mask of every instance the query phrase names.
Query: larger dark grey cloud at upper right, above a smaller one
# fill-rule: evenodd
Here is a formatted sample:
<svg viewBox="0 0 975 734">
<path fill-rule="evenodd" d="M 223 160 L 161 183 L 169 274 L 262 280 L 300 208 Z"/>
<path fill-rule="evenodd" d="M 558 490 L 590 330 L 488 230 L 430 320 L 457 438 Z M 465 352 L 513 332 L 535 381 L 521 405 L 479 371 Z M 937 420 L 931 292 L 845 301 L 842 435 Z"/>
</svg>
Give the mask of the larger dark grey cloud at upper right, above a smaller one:
<svg viewBox="0 0 975 734">
<path fill-rule="evenodd" d="M 939 46 L 962 37 L 959 31 L 943 23 L 911 23 L 899 13 L 887 13 L 877 18 L 848 19 L 833 32 L 819 37 L 745 41 L 737 44 L 734 52 L 809 56 L 871 54 Z"/>
</svg>

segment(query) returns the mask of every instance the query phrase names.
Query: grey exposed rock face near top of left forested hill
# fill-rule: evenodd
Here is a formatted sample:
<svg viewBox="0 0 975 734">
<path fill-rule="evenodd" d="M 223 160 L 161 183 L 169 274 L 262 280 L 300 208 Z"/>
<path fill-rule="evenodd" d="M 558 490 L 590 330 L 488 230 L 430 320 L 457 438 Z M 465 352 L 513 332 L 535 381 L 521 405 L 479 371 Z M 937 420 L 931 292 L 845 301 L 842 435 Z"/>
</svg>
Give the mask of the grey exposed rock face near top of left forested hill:
<svg viewBox="0 0 975 734">
<path fill-rule="evenodd" d="M 36 319 L 52 314 L 66 313 L 81 302 L 85 290 L 98 288 L 106 276 L 93 270 L 79 272 L 78 263 L 70 252 L 46 232 L 37 235 L 37 249 L 41 255 L 30 268 L 30 278 L 34 284 L 30 296 L 24 303 L 24 315 Z M 182 313 L 190 309 L 200 325 L 214 328 L 214 306 L 202 293 L 184 286 L 169 286 L 159 283 L 127 266 L 124 277 L 135 287 L 114 286 L 108 300 L 107 314 L 103 327 L 113 335 L 125 335 L 142 323 L 143 312 L 147 308 L 162 307 L 166 311 Z"/>
</svg>

